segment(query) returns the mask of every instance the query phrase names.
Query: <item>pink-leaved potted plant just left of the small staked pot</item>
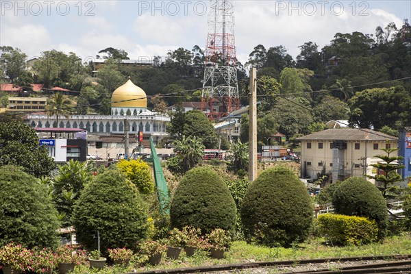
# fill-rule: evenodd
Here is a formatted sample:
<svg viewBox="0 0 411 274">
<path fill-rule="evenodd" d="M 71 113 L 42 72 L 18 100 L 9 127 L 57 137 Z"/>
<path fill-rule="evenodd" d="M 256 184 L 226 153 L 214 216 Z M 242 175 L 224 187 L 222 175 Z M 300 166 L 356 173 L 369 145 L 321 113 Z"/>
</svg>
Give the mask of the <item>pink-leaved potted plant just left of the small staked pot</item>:
<svg viewBox="0 0 411 274">
<path fill-rule="evenodd" d="M 84 264 L 86 262 L 86 252 L 82 249 L 71 249 L 66 246 L 58 247 L 56 253 L 58 272 L 60 274 L 74 271 L 76 265 Z"/>
</svg>

